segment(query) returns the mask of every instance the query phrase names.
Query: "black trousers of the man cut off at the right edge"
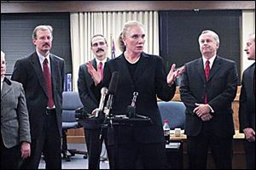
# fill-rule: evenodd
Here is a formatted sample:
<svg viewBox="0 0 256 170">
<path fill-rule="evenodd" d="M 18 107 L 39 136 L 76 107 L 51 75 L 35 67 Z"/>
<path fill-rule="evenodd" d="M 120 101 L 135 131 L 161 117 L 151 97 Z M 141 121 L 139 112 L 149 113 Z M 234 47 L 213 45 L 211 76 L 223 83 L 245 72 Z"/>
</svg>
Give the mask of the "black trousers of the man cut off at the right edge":
<svg viewBox="0 0 256 170">
<path fill-rule="evenodd" d="M 247 169 L 255 169 L 255 142 L 244 141 L 244 149 L 246 152 Z"/>
</svg>

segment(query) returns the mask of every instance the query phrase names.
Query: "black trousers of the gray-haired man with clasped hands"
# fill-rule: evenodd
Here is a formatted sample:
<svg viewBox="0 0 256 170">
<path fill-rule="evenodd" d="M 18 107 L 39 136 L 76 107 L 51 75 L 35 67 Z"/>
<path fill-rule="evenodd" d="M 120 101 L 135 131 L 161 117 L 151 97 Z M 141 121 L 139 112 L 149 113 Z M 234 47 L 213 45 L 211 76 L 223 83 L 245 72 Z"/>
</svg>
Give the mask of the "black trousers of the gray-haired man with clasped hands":
<svg viewBox="0 0 256 170">
<path fill-rule="evenodd" d="M 232 169 L 232 139 L 232 136 L 220 138 L 212 133 L 188 136 L 189 169 L 207 169 L 209 148 L 216 168 Z"/>
</svg>

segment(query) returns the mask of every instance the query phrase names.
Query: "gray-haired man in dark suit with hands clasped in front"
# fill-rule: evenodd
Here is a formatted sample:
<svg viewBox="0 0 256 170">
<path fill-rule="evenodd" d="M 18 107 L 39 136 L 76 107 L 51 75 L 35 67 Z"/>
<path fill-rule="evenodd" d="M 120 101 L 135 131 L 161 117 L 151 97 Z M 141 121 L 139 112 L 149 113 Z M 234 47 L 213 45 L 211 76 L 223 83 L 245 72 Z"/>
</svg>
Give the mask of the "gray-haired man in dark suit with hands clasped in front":
<svg viewBox="0 0 256 170">
<path fill-rule="evenodd" d="M 180 86 L 186 105 L 189 168 L 207 168 L 210 146 L 216 168 L 231 169 L 236 63 L 217 55 L 219 38 L 214 31 L 202 31 L 198 41 L 202 56 L 185 64 Z"/>
</svg>

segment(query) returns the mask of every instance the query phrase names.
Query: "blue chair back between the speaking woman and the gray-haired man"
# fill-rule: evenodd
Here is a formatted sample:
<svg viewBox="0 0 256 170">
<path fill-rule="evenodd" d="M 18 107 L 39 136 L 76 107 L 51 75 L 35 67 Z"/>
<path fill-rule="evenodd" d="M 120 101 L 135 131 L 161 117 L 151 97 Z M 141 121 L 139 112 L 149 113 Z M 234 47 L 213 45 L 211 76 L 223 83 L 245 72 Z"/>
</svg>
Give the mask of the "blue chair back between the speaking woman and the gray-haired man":
<svg viewBox="0 0 256 170">
<path fill-rule="evenodd" d="M 162 122 L 165 119 L 169 121 L 169 126 L 171 129 L 185 127 L 185 105 L 180 101 L 159 101 L 157 105 L 160 109 L 160 115 Z"/>
</svg>

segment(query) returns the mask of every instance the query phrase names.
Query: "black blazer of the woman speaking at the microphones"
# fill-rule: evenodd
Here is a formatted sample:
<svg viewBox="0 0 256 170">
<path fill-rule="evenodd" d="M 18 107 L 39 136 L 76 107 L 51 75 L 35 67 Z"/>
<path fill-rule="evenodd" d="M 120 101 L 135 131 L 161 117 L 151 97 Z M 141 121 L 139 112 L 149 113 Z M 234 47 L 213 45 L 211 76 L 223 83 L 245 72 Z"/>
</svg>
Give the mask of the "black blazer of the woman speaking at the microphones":
<svg viewBox="0 0 256 170">
<path fill-rule="evenodd" d="M 134 137 L 138 142 L 164 142 L 164 133 L 157 105 L 157 97 L 168 101 L 175 94 L 176 85 L 169 87 L 166 82 L 166 70 L 163 59 L 156 55 L 141 54 L 135 72 L 135 80 L 127 66 L 124 54 L 110 59 L 104 67 L 103 86 L 108 87 L 113 71 L 119 72 L 117 91 L 113 95 L 114 115 L 124 115 L 128 105 L 131 105 L 133 92 L 137 91 L 137 114 L 148 116 L 153 124 L 140 127 L 119 127 L 119 142 L 128 143 Z"/>
</svg>

